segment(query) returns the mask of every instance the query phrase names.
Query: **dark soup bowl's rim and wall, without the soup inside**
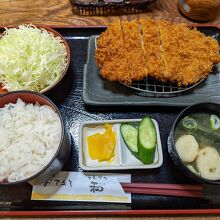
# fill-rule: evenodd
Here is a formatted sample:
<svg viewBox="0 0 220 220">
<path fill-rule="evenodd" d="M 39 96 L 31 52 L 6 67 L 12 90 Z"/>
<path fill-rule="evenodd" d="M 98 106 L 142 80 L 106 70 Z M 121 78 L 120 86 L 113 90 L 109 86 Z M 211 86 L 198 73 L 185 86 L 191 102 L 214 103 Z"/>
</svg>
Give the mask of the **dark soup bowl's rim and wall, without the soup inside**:
<svg viewBox="0 0 220 220">
<path fill-rule="evenodd" d="M 185 108 L 176 118 L 174 124 L 172 125 L 170 135 L 168 137 L 168 152 L 173 160 L 175 166 L 186 176 L 188 176 L 191 179 L 194 179 L 200 183 L 212 183 L 212 184 L 220 184 L 220 180 L 209 180 L 205 179 L 199 175 L 196 175 L 193 173 L 181 160 L 179 157 L 176 147 L 175 147 L 175 131 L 178 126 L 178 124 L 181 122 L 181 120 L 192 113 L 201 113 L 201 112 L 206 112 L 206 113 L 211 113 L 211 114 L 216 114 L 220 115 L 220 105 L 217 103 L 197 103 L 192 106 L 189 106 Z"/>
</svg>

